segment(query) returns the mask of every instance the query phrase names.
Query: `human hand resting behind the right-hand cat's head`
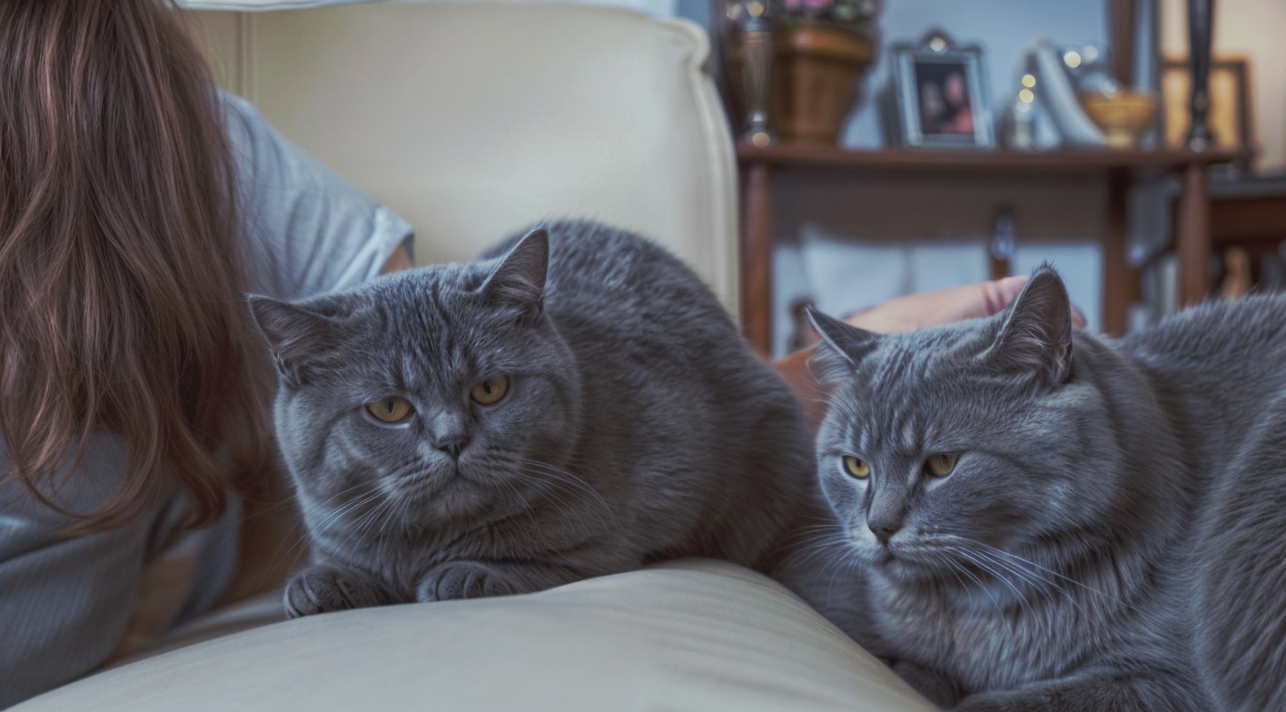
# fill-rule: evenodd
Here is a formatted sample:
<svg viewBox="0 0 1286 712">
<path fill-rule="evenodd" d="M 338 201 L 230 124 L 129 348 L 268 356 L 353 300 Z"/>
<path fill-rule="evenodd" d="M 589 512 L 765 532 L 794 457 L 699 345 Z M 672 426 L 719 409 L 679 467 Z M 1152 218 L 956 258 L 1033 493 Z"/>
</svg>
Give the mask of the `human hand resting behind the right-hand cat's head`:
<svg viewBox="0 0 1286 712">
<path fill-rule="evenodd" d="M 877 307 L 854 314 L 845 321 L 868 332 L 895 334 L 975 316 L 990 316 L 1010 306 L 1010 302 L 1019 296 L 1026 283 L 1028 275 L 1016 275 L 898 297 Z M 1085 317 L 1076 307 L 1071 307 L 1071 321 L 1076 326 L 1085 325 Z"/>
</svg>

